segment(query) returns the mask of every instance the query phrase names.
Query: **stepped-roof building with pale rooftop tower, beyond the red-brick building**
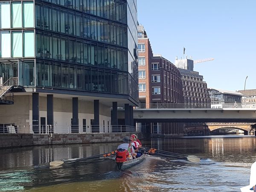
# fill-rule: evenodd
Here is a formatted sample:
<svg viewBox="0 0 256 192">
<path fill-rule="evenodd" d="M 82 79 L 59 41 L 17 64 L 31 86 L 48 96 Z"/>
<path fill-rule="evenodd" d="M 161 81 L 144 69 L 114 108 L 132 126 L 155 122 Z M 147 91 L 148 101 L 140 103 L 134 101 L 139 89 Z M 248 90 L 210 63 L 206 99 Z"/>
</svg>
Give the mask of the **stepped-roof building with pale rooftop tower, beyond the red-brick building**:
<svg viewBox="0 0 256 192">
<path fill-rule="evenodd" d="M 207 83 L 199 72 L 194 71 L 194 63 L 191 59 L 177 59 L 175 66 L 178 67 L 182 84 L 184 103 L 195 105 L 198 108 L 210 108 L 211 100 L 207 89 Z"/>
</svg>

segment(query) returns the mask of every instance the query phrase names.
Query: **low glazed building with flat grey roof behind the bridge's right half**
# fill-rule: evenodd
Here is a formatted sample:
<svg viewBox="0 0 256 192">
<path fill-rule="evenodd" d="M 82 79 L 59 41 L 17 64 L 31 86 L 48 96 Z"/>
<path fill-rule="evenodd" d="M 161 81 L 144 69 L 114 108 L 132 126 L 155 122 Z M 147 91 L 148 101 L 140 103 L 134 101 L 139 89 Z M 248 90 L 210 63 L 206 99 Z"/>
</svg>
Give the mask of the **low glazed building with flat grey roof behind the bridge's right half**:
<svg viewBox="0 0 256 192">
<path fill-rule="evenodd" d="M 224 103 L 241 103 L 242 93 L 230 90 L 209 88 L 211 108 L 221 108 Z"/>
</svg>

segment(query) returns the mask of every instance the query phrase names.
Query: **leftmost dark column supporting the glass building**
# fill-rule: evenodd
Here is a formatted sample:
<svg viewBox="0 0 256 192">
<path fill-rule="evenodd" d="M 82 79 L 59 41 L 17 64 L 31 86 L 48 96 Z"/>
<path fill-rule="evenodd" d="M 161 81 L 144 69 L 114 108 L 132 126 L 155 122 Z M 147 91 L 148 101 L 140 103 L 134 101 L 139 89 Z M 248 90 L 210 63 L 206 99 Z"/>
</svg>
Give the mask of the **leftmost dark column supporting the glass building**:
<svg viewBox="0 0 256 192">
<path fill-rule="evenodd" d="M 32 93 L 32 130 L 39 133 L 39 93 Z"/>
</svg>

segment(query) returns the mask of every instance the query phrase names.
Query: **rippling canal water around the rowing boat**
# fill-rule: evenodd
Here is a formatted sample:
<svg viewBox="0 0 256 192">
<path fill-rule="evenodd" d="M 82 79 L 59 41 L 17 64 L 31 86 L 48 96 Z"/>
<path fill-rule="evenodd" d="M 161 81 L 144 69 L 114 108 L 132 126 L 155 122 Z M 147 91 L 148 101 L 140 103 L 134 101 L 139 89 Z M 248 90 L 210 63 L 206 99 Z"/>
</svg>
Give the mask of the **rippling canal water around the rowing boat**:
<svg viewBox="0 0 256 192">
<path fill-rule="evenodd" d="M 249 184 L 250 166 L 256 161 L 256 137 L 154 138 L 142 143 L 197 155 L 201 162 L 152 156 L 123 172 L 109 159 L 49 168 L 49 161 L 110 152 L 119 143 L 2 149 L 0 191 L 239 192 Z"/>
</svg>

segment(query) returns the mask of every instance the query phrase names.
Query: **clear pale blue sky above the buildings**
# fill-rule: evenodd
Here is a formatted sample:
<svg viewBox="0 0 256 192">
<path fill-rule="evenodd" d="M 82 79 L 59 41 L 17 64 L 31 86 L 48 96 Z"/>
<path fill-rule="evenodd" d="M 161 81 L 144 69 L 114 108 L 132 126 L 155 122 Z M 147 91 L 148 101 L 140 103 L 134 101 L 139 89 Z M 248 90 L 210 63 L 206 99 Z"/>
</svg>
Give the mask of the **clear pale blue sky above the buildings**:
<svg viewBox="0 0 256 192">
<path fill-rule="evenodd" d="M 153 53 L 193 60 L 208 87 L 256 89 L 256 0 L 138 0 Z"/>
</svg>

